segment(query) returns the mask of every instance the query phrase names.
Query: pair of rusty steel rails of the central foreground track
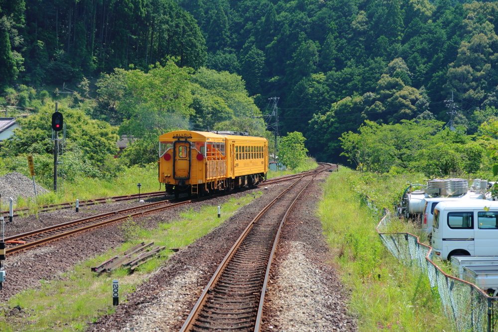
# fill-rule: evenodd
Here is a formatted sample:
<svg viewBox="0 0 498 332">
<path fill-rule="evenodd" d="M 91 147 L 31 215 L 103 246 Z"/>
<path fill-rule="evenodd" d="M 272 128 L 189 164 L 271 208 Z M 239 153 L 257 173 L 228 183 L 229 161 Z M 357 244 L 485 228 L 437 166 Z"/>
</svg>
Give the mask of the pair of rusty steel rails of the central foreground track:
<svg viewBox="0 0 498 332">
<path fill-rule="evenodd" d="M 314 177 L 319 174 L 320 172 L 323 172 L 327 169 L 327 164 L 322 164 L 321 165 L 321 170 L 318 171 L 318 172 L 314 172 L 314 174 L 309 174 L 309 173 L 303 173 L 303 174 L 300 174 L 300 177 L 297 181 L 295 181 L 292 185 L 290 185 L 287 189 L 285 189 L 282 193 L 280 193 L 280 195 L 278 195 L 275 199 L 273 199 L 270 203 L 268 203 L 255 217 L 252 221 L 249 222 L 248 226 L 246 227 L 246 229 L 244 229 L 244 231 L 242 232 L 242 234 L 239 236 L 239 238 L 237 239 L 237 241 L 235 242 L 235 244 L 232 246 L 232 248 L 230 249 L 230 251 L 227 253 L 227 255 L 225 256 L 225 258 L 223 259 L 223 261 L 220 263 L 220 265 L 218 266 L 217 270 L 215 271 L 215 273 L 213 274 L 213 276 L 211 277 L 210 281 L 208 282 L 208 284 L 206 285 L 206 287 L 204 288 L 201 296 L 199 297 L 199 299 L 197 300 L 196 304 L 194 305 L 193 309 L 191 310 L 189 316 L 187 317 L 185 323 L 183 324 L 182 328 L 180 329 L 180 332 L 187 332 L 187 331 L 190 331 L 194 328 L 194 324 L 196 322 L 196 320 L 198 319 L 203 307 L 205 306 L 206 304 L 206 301 L 208 299 L 208 293 L 209 291 L 211 291 L 213 289 L 213 287 L 215 286 L 215 284 L 217 283 L 217 281 L 220 279 L 222 273 L 224 272 L 224 270 L 227 268 L 228 264 L 230 263 L 230 261 L 232 260 L 232 258 L 234 257 L 235 253 L 237 252 L 237 250 L 239 249 L 240 245 L 243 243 L 244 239 L 248 236 L 250 230 L 253 228 L 254 224 L 259 221 L 261 219 L 261 217 L 279 200 L 282 198 L 282 196 L 284 194 L 286 194 L 290 189 L 292 189 L 298 182 L 300 182 L 305 176 L 309 176 L 309 175 L 312 175 L 312 179 L 305 185 L 305 187 L 297 194 L 297 196 L 295 197 L 295 199 L 292 201 L 292 203 L 289 205 L 289 207 L 287 208 L 286 212 L 285 212 L 285 215 L 282 219 L 282 221 L 280 222 L 280 226 L 278 227 L 278 230 L 277 230 L 277 233 L 276 233 L 276 236 L 275 236 L 275 239 L 274 239 L 274 242 L 273 242 L 273 247 L 272 247 L 272 250 L 271 250 L 271 253 L 270 253 L 270 256 L 269 256 L 269 261 L 267 263 L 267 267 L 266 267 L 266 274 L 265 274 L 265 278 L 263 280 L 263 289 L 265 290 L 266 289 L 266 283 L 267 283 L 267 279 L 268 279 L 268 275 L 269 275 L 269 270 L 270 270 L 270 266 L 271 266 L 271 260 L 273 258 L 273 254 L 274 254 L 274 251 L 275 251 L 275 248 L 276 248 L 276 244 L 278 242 L 278 237 L 279 237 L 279 234 L 280 234 L 280 230 L 281 230 L 281 227 L 282 227 L 282 224 L 285 220 L 285 218 L 287 217 L 289 211 L 293 208 L 293 206 L 295 205 L 295 202 L 297 201 L 297 199 L 300 197 L 300 195 L 304 192 L 304 190 L 308 187 L 308 185 L 311 183 L 311 181 L 313 181 Z M 330 166 L 331 167 L 331 166 Z M 329 167 L 329 168 L 330 168 Z M 289 180 L 289 179 L 287 179 Z M 259 307 L 258 307 L 258 313 L 256 315 L 256 323 L 258 322 L 258 319 L 260 320 L 261 318 L 261 315 L 259 313 L 259 311 L 262 309 L 262 301 L 264 301 L 264 293 L 261 295 L 261 298 L 260 298 L 260 304 L 259 304 Z M 257 326 L 259 327 L 259 324 L 257 324 Z M 259 329 L 259 328 L 258 328 Z M 254 331 L 258 331 L 258 330 L 254 330 Z"/>
</svg>

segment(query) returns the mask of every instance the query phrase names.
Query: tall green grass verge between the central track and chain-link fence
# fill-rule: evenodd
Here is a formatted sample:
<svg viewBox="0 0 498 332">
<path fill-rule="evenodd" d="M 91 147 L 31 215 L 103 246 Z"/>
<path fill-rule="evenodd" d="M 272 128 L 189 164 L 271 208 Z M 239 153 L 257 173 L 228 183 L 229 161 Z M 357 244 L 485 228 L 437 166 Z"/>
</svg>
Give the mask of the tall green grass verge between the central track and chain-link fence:
<svg viewBox="0 0 498 332">
<path fill-rule="evenodd" d="M 318 212 L 332 264 L 352 290 L 349 308 L 360 331 L 454 331 L 427 275 L 403 266 L 384 248 L 375 231 L 379 216 L 358 195 L 368 193 L 379 207 L 392 210 L 396 194 L 417 177 L 375 176 L 342 167 L 325 185 Z M 394 227 L 413 230 L 401 222 Z"/>
</svg>

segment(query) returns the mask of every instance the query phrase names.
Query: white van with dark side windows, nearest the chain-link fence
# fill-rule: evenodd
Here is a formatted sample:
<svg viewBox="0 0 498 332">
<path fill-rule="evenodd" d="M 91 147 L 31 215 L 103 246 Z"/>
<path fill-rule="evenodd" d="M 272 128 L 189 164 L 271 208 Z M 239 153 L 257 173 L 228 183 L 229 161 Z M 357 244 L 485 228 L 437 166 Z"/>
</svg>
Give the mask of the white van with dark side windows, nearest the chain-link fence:
<svg viewBox="0 0 498 332">
<path fill-rule="evenodd" d="M 434 209 L 432 247 L 441 259 L 498 256 L 498 202 L 459 200 Z"/>
</svg>

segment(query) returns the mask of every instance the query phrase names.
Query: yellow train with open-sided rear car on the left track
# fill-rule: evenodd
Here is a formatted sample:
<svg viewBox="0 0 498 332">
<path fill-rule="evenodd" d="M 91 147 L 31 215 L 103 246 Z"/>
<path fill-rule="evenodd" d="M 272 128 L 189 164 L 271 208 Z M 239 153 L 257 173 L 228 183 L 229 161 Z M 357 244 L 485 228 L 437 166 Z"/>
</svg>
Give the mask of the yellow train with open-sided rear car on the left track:
<svg viewBox="0 0 498 332">
<path fill-rule="evenodd" d="M 201 197 L 253 186 L 268 171 L 268 141 L 247 132 L 178 130 L 159 136 L 159 182 Z"/>
</svg>

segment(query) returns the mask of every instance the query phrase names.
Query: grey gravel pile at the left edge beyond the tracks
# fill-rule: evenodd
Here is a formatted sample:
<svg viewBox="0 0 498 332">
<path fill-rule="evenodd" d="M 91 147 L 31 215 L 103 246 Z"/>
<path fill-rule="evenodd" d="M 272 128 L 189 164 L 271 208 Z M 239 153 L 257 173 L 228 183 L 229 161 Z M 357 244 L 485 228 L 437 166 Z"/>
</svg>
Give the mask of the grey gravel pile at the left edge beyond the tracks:
<svg viewBox="0 0 498 332">
<path fill-rule="evenodd" d="M 36 184 L 36 192 L 45 194 L 48 190 Z M 5 174 L 0 177 L 0 195 L 2 204 L 8 204 L 9 197 L 14 199 L 14 204 L 17 203 L 18 196 L 34 197 L 33 180 L 19 172 Z"/>
</svg>

